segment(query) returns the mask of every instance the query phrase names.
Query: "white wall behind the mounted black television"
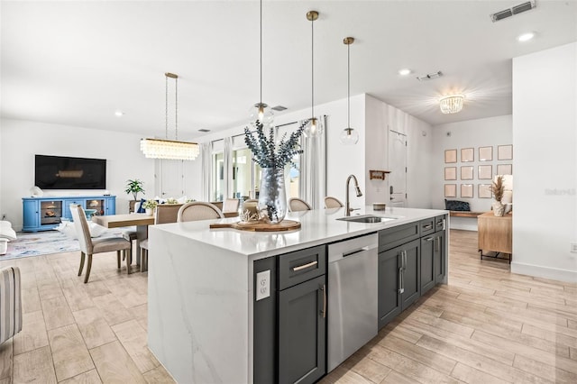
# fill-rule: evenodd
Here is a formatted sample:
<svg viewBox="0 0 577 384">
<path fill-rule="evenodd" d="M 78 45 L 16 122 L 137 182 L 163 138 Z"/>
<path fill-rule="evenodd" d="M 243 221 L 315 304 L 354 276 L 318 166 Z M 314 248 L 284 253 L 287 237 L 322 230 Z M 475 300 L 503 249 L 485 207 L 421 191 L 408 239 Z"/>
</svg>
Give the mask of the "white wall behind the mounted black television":
<svg viewBox="0 0 577 384">
<path fill-rule="evenodd" d="M 140 151 L 140 135 L 94 129 L 7 120 L 1 122 L 0 214 L 22 229 L 22 197 L 34 185 L 34 155 L 85 157 L 106 160 L 106 188 L 116 196 L 116 213 L 128 213 L 132 195 L 124 193 L 126 180 L 140 178 L 147 195 L 154 193 L 154 160 Z M 103 190 L 46 190 L 45 196 L 99 195 Z M 140 195 L 139 197 L 142 197 Z"/>
</svg>

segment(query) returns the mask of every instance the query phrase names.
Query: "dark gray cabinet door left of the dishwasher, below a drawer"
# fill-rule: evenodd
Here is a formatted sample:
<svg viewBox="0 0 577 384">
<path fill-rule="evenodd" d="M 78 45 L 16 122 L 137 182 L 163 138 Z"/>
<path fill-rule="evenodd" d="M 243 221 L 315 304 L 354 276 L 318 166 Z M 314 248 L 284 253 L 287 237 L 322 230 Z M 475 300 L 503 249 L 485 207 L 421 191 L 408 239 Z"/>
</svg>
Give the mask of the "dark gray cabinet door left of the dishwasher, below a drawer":
<svg viewBox="0 0 577 384">
<path fill-rule="evenodd" d="M 313 383 L 326 370 L 325 275 L 279 292 L 279 383 Z"/>
</svg>

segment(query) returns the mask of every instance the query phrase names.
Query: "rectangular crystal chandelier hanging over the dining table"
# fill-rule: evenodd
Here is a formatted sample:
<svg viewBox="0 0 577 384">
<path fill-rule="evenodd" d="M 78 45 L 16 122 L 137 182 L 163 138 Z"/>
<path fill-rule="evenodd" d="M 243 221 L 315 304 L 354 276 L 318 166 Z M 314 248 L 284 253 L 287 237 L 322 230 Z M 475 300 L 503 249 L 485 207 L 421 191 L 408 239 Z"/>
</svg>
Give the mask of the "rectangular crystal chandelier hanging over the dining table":
<svg viewBox="0 0 577 384">
<path fill-rule="evenodd" d="M 141 139 L 141 151 L 149 159 L 195 160 L 200 152 L 196 142 L 179 141 L 179 75 L 165 73 L 166 108 L 165 139 Z M 175 140 L 169 140 L 169 78 L 174 78 L 174 133 Z"/>
</svg>

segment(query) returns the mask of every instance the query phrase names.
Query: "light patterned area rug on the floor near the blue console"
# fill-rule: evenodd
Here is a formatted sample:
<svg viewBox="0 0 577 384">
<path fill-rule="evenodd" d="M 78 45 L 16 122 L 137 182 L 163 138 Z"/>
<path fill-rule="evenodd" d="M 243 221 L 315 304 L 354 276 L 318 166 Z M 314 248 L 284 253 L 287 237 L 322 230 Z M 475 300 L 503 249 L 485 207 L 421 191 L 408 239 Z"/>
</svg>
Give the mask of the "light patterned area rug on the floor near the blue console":
<svg viewBox="0 0 577 384">
<path fill-rule="evenodd" d="M 50 253 L 79 251 L 78 240 L 59 231 L 17 233 L 17 240 L 8 242 L 8 251 L 0 255 L 0 261 L 40 256 Z M 122 236 L 122 229 L 110 229 L 99 238 Z"/>
</svg>

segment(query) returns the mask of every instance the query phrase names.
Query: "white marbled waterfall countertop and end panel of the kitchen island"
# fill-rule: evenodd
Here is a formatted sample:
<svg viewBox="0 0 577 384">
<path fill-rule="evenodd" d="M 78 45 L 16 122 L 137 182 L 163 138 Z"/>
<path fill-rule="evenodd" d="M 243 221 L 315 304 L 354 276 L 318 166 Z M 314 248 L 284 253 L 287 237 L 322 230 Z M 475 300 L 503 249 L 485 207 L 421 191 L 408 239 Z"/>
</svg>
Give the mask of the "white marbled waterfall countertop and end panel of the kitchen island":
<svg viewBox="0 0 577 384">
<path fill-rule="evenodd" d="M 344 211 L 335 208 L 290 213 L 288 219 L 301 223 L 301 228 L 292 232 L 211 230 L 208 225 L 214 220 L 151 226 L 148 292 L 151 352 L 178 382 L 251 383 L 255 366 L 259 367 L 260 362 L 270 365 L 268 361 L 253 361 L 254 334 L 265 332 L 263 328 L 267 327 L 266 323 L 255 322 L 253 315 L 255 261 L 281 260 L 283 256 L 279 255 L 322 250 L 325 244 L 370 233 L 387 233 L 391 228 L 410 228 L 408 224 L 446 217 L 447 211 L 388 208 L 373 212 L 367 207 L 360 214 L 393 220 L 368 224 L 336 220 L 343 217 Z M 222 219 L 235 220 L 238 218 Z M 448 243 L 446 237 L 444 247 Z M 447 264 L 444 261 L 445 282 Z M 272 292 L 268 294 L 273 299 L 277 284 L 273 273 L 266 284 L 270 284 Z M 255 324 L 259 324 L 258 329 Z"/>
</svg>

